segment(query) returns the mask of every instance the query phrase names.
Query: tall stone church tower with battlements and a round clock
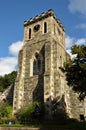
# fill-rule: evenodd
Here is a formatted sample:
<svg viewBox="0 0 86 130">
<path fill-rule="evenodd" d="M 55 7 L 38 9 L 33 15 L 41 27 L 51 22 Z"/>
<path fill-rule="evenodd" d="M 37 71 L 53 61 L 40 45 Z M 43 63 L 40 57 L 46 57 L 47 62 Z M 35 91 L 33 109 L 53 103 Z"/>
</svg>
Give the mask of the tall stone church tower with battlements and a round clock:
<svg viewBox="0 0 86 130">
<path fill-rule="evenodd" d="M 24 21 L 24 44 L 18 57 L 13 113 L 38 101 L 45 104 L 47 115 L 51 116 L 55 101 L 56 107 L 78 118 L 77 98 L 59 69 L 67 59 L 65 29 L 52 10 Z"/>
</svg>

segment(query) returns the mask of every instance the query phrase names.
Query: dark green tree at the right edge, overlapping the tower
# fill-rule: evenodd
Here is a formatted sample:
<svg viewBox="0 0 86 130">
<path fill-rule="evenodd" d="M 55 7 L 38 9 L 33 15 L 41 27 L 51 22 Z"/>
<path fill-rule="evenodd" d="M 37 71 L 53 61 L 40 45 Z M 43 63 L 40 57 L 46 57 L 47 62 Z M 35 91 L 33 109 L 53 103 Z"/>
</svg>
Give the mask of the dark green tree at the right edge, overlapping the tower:
<svg viewBox="0 0 86 130">
<path fill-rule="evenodd" d="M 79 94 L 79 99 L 86 96 L 86 46 L 74 45 L 71 48 L 75 57 L 64 64 L 67 83 Z"/>
</svg>

